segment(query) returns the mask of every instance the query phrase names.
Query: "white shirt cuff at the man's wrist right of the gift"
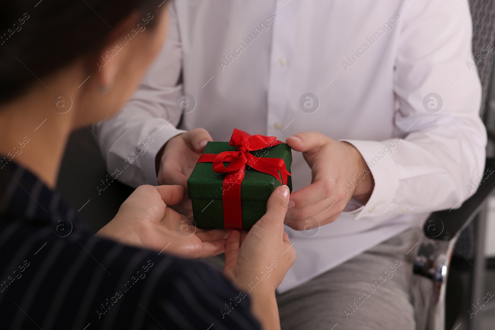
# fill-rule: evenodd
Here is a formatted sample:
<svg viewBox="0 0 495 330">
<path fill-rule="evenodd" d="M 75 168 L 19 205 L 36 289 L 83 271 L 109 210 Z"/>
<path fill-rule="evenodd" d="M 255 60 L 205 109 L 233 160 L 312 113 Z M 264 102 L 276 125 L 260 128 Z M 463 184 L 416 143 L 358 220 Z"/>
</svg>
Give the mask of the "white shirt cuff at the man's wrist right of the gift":
<svg viewBox="0 0 495 330">
<path fill-rule="evenodd" d="M 364 140 L 341 140 L 352 144 L 366 161 L 373 179 L 375 187 L 368 202 L 361 208 L 355 220 L 366 217 L 383 216 L 392 207 L 398 185 L 398 173 L 396 164 L 392 158 L 390 150 L 395 146 L 395 141 L 364 141 Z M 388 152 L 387 152 L 388 150 Z M 393 151 L 392 151 L 393 152 Z"/>
</svg>

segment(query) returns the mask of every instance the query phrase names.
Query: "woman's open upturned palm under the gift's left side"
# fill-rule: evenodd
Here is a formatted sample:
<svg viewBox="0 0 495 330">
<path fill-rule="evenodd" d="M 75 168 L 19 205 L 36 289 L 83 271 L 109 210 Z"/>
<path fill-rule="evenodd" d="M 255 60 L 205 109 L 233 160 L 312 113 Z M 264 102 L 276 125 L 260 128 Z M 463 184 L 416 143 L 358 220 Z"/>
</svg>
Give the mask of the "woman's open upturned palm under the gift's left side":
<svg viewBox="0 0 495 330">
<path fill-rule="evenodd" d="M 140 186 L 97 235 L 184 258 L 205 258 L 224 252 L 230 231 L 204 231 L 191 225 L 193 221 L 167 205 L 182 200 L 180 186 Z"/>
</svg>

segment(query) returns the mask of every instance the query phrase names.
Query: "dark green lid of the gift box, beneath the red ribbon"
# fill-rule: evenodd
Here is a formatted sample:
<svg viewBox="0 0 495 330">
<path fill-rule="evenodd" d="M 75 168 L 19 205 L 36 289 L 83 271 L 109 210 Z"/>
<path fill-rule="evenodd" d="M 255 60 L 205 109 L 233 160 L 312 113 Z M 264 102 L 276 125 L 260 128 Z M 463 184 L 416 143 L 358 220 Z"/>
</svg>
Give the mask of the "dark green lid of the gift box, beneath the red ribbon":
<svg viewBox="0 0 495 330">
<path fill-rule="evenodd" d="M 236 147 L 228 142 L 208 142 L 204 147 L 204 153 L 218 154 L 222 151 L 235 151 Z M 291 147 L 286 143 L 280 143 L 268 148 L 250 151 L 256 157 L 281 158 L 284 160 L 287 171 L 291 172 L 292 153 Z M 229 162 L 224 162 L 227 166 Z M 188 191 L 190 199 L 222 199 L 223 180 L 226 173 L 213 171 L 213 163 L 197 163 L 188 179 Z M 288 186 L 292 191 L 291 177 L 288 178 Z M 267 200 L 275 188 L 281 183 L 272 175 L 258 172 L 246 165 L 246 174 L 241 184 L 242 200 Z"/>
</svg>

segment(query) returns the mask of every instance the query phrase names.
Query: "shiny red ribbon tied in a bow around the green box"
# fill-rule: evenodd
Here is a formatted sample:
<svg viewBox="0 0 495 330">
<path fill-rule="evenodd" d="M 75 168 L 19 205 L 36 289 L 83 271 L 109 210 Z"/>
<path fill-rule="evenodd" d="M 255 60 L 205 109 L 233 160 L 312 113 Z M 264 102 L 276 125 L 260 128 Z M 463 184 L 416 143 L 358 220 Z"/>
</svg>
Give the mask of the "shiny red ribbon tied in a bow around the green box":
<svg viewBox="0 0 495 330">
<path fill-rule="evenodd" d="M 244 131 L 234 129 L 229 145 L 237 147 L 236 151 L 223 151 L 219 154 L 204 153 L 199 157 L 198 163 L 213 162 L 213 171 L 227 173 L 222 187 L 225 229 L 243 228 L 241 183 L 244 179 L 246 164 L 256 171 L 274 176 L 281 184 L 287 185 L 287 176 L 291 174 L 287 171 L 283 159 L 261 158 L 249 153 L 249 151 L 268 148 L 280 143 L 284 142 L 278 141 L 275 137 L 249 135 Z M 223 162 L 230 162 L 230 164 L 225 167 Z"/>
</svg>

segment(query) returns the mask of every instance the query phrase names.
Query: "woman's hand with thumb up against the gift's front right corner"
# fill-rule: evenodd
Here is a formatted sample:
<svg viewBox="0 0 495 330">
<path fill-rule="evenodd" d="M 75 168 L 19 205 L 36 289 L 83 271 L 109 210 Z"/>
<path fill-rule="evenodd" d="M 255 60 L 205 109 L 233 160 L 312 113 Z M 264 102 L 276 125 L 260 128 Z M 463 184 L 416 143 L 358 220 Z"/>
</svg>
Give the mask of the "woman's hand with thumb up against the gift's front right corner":
<svg viewBox="0 0 495 330">
<path fill-rule="evenodd" d="M 296 251 L 284 233 L 289 188 L 275 189 L 266 214 L 246 234 L 232 231 L 225 248 L 224 276 L 252 300 L 252 310 L 263 329 L 280 329 L 275 289 L 296 260 Z"/>
</svg>

